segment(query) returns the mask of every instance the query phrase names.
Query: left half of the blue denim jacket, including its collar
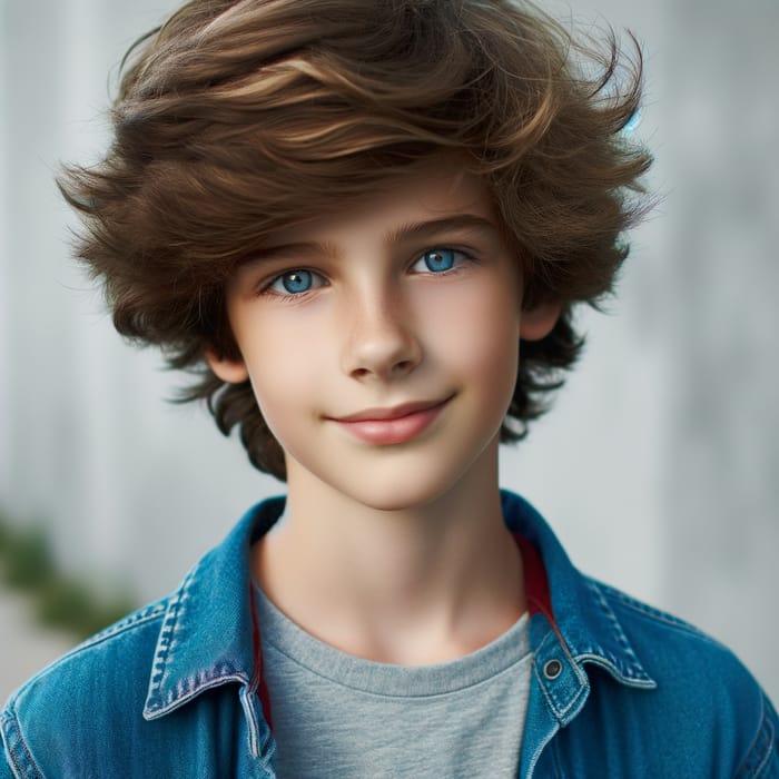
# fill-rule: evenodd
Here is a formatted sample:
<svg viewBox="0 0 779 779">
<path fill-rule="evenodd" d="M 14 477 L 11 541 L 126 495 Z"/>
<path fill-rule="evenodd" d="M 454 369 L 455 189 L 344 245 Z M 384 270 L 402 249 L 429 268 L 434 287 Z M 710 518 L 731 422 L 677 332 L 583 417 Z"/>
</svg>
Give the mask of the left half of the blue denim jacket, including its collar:
<svg viewBox="0 0 779 779">
<path fill-rule="evenodd" d="M 282 507 L 277 499 L 250 509 L 175 593 L 11 696 L 0 733 L 20 776 L 218 776 L 258 748 L 248 550 Z"/>
</svg>

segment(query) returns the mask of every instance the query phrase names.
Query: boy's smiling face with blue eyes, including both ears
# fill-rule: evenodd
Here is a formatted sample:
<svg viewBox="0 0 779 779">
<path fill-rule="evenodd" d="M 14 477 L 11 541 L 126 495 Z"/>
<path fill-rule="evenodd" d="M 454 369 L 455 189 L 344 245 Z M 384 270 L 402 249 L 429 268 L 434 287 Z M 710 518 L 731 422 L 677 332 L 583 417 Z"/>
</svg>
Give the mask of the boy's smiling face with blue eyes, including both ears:
<svg viewBox="0 0 779 779">
<path fill-rule="evenodd" d="M 269 235 L 226 294 L 243 359 L 209 363 L 252 379 L 289 490 L 384 510 L 496 480 L 520 336 L 542 337 L 559 314 L 521 312 L 519 258 L 484 185 L 452 159 Z"/>
</svg>

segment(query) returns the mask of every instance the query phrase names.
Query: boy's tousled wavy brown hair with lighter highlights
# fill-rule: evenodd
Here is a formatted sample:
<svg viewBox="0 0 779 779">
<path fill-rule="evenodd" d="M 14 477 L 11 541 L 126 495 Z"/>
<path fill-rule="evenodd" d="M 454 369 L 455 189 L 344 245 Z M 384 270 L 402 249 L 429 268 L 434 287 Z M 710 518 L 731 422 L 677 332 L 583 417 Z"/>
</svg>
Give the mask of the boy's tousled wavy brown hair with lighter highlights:
<svg viewBox="0 0 779 779">
<path fill-rule="evenodd" d="M 249 383 L 205 362 L 209 347 L 239 356 L 226 279 L 269 230 L 457 152 L 490 186 L 525 307 L 563 304 L 549 336 L 521 344 L 501 435 L 522 437 L 581 349 L 572 307 L 611 292 L 643 211 L 650 157 L 622 132 L 640 50 L 625 59 L 604 38 L 580 43 L 511 0 L 191 0 L 128 52 L 102 164 L 60 179 L 86 226 L 78 255 L 117 329 L 194 372 L 181 400 L 207 398 L 253 464 L 284 479 Z"/>
</svg>

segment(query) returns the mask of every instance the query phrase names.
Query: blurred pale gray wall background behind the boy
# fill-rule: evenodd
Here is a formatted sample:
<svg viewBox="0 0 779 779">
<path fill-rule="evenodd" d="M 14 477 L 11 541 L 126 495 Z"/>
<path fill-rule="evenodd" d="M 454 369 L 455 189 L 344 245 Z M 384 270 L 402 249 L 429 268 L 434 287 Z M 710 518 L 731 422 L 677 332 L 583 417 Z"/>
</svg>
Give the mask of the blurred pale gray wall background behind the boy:
<svg viewBox="0 0 779 779">
<path fill-rule="evenodd" d="M 69 257 L 53 174 L 98 159 L 121 55 L 176 4 L 0 0 L 0 509 L 42 524 L 66 570 L 139 601 L 283 487 L 203 408 L 165 403 L 177 377 L 121 342 Z M 642 42 L 635 131 L 665 197 L 610 313 L 582 313 L 586 355 L 504 452 L 503 484 L 581 569 L 728 643 L 777 700 L 779 3 L 541 4 Z M 24 650 L 33 622 L 2 602 L 0 698 L 67 645 Z"/>
</svg>

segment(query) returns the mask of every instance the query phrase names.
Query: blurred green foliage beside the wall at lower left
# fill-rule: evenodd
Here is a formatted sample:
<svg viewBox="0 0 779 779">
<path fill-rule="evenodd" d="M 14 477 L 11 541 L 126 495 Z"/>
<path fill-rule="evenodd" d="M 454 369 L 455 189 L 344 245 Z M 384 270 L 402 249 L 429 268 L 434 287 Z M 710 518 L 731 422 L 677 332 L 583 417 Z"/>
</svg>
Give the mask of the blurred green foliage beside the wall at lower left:
<svg viewBox="0 0 779 779">
<path fill-rule="evenodd" d="M 27 592 L 43 624 L 87 638 L 132 611 L 126 595 L 96 593 L 85 581 L 61 572 L 40 527 L 18 530 L 0 512 L 0 581 Z"/>
</svg>

